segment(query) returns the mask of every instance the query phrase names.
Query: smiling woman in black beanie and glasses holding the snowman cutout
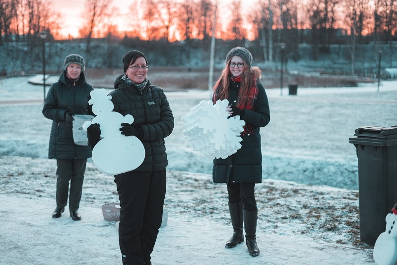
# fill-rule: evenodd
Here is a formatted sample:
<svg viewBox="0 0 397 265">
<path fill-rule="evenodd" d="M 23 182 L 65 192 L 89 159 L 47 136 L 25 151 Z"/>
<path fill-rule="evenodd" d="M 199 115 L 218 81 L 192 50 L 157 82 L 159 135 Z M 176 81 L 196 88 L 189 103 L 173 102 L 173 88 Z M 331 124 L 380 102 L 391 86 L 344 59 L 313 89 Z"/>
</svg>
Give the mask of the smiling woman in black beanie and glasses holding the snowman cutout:
<svg viewBox="0 0 397 265">
<path fill-rule="evenodd" d="M 115 175 L 121 206 L 119 244 L 124 265 L 147 265 L 163 217 L 168 165 L 164 138 L 174 128 L 174 116 L 163 89 L 147 79 L 146 57 L 130 51 L 123 64 L 125 74 L 116 78 L 115 90 L 109 94 L 113 111 L 134 118 L 132 124 L 122 123 L 120 131 L 142 142 L 145 158 L 135 170 Z M 92 148 L 99 141 L 97 127 L 99 124 L 87 128 Z"/>
</svg>

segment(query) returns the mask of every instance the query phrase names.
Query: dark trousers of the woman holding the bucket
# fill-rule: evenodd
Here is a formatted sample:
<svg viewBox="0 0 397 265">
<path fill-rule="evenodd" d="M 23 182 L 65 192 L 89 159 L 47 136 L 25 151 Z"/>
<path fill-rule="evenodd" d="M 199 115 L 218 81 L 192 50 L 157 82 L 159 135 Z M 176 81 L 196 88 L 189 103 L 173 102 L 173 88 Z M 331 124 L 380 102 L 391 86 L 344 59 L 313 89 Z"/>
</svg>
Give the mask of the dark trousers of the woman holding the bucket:
<svg viewBox="0 0 397 265">
<path fill-rule="evenodd" d="M 86 163 L 87 159 L 57 159 L 57 207 L 66 206 L 70 181 L 69 210 L 78 210 Z"/>
</svg>

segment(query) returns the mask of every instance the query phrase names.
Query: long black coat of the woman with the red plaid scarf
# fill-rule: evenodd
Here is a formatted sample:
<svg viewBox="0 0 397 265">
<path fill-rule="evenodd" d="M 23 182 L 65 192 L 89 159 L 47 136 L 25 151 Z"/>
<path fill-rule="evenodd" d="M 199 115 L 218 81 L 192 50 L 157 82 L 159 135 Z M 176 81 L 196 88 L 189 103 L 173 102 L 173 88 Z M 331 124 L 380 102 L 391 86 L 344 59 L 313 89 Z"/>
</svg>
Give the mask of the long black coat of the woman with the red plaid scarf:
<svg viewBox="0 0 397 265">
<path fill-rule="evenodd" d="M 229 91 L 229 104 L 235 104 L 240 82 L 232 82 Z M 262 151 L 260 127 L 265 127 L 270 121 L 269 103 L 265 88 L 257 81 L 259 89 L 255 108 L 245 109 L 240 120 L 252 125 L 252 134 L 241 136 L 241 149 L 226 159 L 214 159 L 212 179 L 214 183 L 261 183 L 262 182 Z"/>
</svg>

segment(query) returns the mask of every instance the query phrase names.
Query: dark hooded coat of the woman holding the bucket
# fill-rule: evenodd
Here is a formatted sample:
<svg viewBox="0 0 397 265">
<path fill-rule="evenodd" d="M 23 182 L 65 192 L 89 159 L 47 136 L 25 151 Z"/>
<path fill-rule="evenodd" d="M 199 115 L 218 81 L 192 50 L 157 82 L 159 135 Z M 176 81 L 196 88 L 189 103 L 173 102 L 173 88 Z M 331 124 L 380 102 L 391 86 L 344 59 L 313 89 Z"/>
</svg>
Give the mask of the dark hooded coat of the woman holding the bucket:
<svg viewBox="0 0 397 265">
<path fill-rule="evenodd" d="M 91 148 L 74 144 L 72 124 L 65 121 L 65 112 L 70 115 L 90 114 L 88 100 L 92 86 L 87 84 L 84 73 L 74 83 L 66 78 L 65 70 L 59 81 L 52 84 L 43 107 L 43 115 L 53 120 L 48 148 L 48 158 L 84 159 L 91 157 Z"/>
</svg>

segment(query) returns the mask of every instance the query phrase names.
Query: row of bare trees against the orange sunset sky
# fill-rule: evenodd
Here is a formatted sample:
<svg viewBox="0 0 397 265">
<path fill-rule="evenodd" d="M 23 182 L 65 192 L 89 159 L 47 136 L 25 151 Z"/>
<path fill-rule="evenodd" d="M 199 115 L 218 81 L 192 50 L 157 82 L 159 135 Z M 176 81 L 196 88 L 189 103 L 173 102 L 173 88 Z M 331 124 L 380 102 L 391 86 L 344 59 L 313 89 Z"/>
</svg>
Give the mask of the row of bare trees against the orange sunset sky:
<svg viewBox="0 0 397 265">
<path fill-rule="evenodd" d="M 374 43 L 377 60 L 380 44 L 393 49 L 396 36 L 397 0 L 131 0 L 128 8 L 129 30 L 120 31 L 114 18 L 121 12 L 112 1 L 84 1 L 79 37 L 87 53 L 93 38 L 181 41 L 188 47 L 199 40 L 209 49 L 214 36 L 242 46 L 253 41 L 265 61 L 275 60 L 280 43 L 294 61 L 301 43 L 312 45 L 314 60 L 332 43 L 343 43 L 354 62 L 357 45 Z M 41 31 L 49 32 L 46 41 L 62 39 L 61 21 L 51 0 L 1 0 L 0 45 L 23 41 L 33 48 Z"/>
</svg>

